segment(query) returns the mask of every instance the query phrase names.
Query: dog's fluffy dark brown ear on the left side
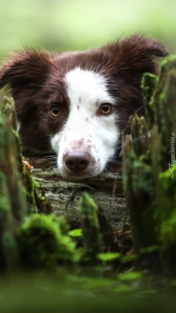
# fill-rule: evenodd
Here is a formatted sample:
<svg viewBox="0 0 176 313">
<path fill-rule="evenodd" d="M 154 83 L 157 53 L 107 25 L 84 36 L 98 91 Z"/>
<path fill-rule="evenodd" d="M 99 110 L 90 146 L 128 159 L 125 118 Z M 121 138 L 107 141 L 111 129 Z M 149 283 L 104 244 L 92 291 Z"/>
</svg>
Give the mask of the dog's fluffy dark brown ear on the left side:
<svg viewBox="0 0 176 313">
<path fill-rule="evenodd" d="M 9 85 L 13 95 L 31 85 L 41 85 L 53 65 L 47 51 L 25 50 L 13 54 L 0 68 L 0 88 Z"/>
</svg>

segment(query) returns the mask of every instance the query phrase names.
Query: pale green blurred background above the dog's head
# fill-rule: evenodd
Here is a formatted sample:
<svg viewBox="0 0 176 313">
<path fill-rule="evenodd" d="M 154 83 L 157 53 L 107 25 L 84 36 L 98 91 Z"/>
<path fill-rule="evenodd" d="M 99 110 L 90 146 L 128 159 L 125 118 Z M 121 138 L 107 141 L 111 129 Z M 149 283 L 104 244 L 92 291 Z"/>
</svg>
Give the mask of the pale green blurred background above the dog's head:
<svg viewBox="0 0 176 313">
<path fill-rule="evenodd" d="M 176 53 L 175 0 L 1 0 L 0 60 L 23 46 L 84 50 L 143 32 Z"/>
</svg>

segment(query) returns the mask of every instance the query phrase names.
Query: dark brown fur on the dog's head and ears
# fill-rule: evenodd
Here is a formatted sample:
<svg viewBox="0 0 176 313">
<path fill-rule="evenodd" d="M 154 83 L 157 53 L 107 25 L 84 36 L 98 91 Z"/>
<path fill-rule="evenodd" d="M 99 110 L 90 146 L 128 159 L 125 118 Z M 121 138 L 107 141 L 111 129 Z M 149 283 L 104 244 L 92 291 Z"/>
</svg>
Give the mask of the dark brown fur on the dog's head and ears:
<svg viewBox="0 0 176 313">
<path fill-rule="evenodd" d="M 109 93 L 117 98 L 119 128 L 142 105 L 143 73 L 157 74 L 153 57 L 168 52 L 158 41 L 133 35 L 112 44 L 64 54 L 25 50 L 13 54 L 0 69 L 0 87 L 8 84 L 16 103 L 23 145 L 34 150 L 50 150 L 50 136 L 59 131 L 68 116 L 64 74 L 75 68 L 88 69 L 106 77 Z M 63 114 L 54 119 L 49 110 L 60 104 Z M 142 114 L 143 112 L 141 112 Z"/>
</svg>

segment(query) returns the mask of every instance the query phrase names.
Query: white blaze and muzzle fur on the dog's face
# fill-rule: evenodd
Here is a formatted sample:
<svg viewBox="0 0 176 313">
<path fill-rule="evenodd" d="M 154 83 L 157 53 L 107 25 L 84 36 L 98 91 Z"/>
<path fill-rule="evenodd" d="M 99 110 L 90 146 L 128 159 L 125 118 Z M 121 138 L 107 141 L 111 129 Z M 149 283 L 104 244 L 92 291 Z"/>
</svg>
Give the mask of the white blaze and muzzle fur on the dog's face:
<svg viewBox="0 0 176 313">
<path fill-rule="evenodd" d="M 70 100 L 68 120 L 52 139 L 58 168 L 63 177 L 97 176 L 113 158 L 119 138 L 117 115 L 99 113 L 103 103 L 113 105 L 114 99 L 107 91 L 106 79 L 93 71 L 75 68 L 66 74 L 65 80 Z M 65 153 L 79 147 L 91 155 L 81 176 L 73 174 L 64 163 Z"/>
</svg>

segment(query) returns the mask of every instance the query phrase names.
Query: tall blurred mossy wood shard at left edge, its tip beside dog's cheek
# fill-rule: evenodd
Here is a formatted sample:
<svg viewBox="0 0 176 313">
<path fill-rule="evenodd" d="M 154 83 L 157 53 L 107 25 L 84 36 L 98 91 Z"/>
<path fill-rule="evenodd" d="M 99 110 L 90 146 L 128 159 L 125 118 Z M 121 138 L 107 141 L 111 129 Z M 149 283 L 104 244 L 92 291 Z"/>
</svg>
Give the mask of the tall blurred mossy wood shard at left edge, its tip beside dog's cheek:
<svg viewBox="0 0 176 313">
<path fill-rule="evenodd" d="M 27 211 L 26 194 L 22 185 L 22 158 L 20 138 L 16 131 L 16 114 L 13 99 L 3 98 L 0 105 L 0 172 L 7 180 L 10 207 L 13 217 L 22 222 Z"/>
</svg>

